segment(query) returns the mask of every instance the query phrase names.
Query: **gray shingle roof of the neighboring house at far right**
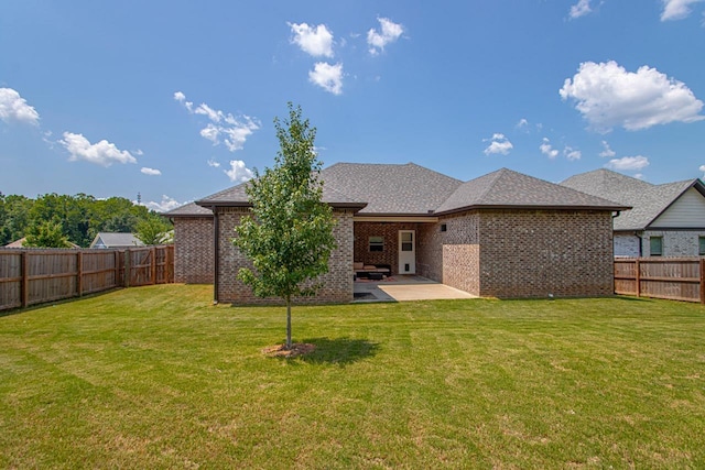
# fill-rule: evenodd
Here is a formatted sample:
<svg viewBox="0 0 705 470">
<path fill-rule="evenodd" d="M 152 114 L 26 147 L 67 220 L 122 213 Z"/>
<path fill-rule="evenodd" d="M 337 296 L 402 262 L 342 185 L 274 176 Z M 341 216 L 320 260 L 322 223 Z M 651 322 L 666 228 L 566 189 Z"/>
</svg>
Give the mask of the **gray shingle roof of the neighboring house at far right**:
<svg viewBox="0 0 705 470">
<path fill-rule="evenodd" d="M 600 195 L 631 206 L 615 219 L 615 230 L 644 230 L 698 179 L 652 185 L 641 179 L 600 168 L 572 176 L 561 183 L 583 193 Z"/>
</svg>

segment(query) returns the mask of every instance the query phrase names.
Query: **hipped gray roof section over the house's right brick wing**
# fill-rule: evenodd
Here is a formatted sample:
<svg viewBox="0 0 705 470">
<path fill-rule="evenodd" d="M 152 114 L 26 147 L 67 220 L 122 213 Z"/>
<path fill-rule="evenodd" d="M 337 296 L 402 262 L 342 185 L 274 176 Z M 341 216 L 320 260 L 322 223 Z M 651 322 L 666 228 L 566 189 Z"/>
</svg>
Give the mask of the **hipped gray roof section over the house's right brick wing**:
<svg viewBox="0 0 705 470">
<path fill-rule="evenodd" d="M 621 210 L 623 205 L 501 168 L 463 184 L 438 212 L 467 207 L 542 207 Z"/>
</svg>

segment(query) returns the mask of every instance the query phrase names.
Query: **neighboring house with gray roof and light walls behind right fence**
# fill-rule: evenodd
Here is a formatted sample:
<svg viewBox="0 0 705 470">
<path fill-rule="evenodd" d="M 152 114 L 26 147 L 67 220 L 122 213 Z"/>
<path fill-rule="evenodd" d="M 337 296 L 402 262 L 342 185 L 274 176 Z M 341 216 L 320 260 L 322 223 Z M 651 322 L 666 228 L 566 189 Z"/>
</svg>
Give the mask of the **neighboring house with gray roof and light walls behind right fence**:
<svg viewBox="0 0 705 470">
<path fill-rule="evenodd" d="M 705 255 L 705 185 L 699 179 L 653 185 L 596 170 L 561 185 L 632 207 L 615 219 L 616 256 Z"/>
</svg>

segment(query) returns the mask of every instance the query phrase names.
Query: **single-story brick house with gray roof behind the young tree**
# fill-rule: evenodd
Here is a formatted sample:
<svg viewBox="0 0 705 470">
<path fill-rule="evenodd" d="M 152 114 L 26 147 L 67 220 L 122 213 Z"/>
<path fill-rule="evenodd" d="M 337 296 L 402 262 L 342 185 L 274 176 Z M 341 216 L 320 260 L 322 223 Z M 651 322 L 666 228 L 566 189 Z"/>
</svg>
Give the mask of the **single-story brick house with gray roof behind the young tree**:
<svg viewBox="0 0 705 470">
<path fill-rule="evenodd" d="M 321 177 L 338 247 L 313 302 L 352 300 L 354 262 L 479 296 L 614 292 L 612 217 L 626 205 L 506 168 L 464 183 L 412 163 L 337 163 Z M 246 185 L 164 214 L 174 221 L 175 270 L 188 282 L 189 263 L 204 260 L 198 278 L 210 258 L 215 300 L 272 303 L 236 278 L 250 265 L 231 242 L 251 207 Z"/>
</svg>

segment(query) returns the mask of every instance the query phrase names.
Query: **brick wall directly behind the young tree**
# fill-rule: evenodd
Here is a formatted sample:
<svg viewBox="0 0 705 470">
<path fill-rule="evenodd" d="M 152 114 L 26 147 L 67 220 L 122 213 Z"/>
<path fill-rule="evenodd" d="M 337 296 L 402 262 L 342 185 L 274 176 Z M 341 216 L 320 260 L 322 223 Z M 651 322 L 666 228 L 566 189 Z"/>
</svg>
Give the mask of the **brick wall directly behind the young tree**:
<svg viewBox="0 0 705 470">
<path fill-rule="evenodd" d="M 218 299 L 234 304 L 281 305 L 275 297 L 260 298 L 252 294 L 249 286 L 237 280 L 240 267 L 251 267 L 250 261 L 231 240 L 235 227 L 248 212 L 245 208 L 219 208 L 219 242 L 220 262 L 218 269 Z M 330 253 L 328 273 L 322 275 L 317 282 L 323 284 L 315 297 L 299 297 L 295 304 L 347 303 L 352 300 L 352 212 L 335 210 L 337 223 L 333 234 L 338 248 Z"/>
</svg>

